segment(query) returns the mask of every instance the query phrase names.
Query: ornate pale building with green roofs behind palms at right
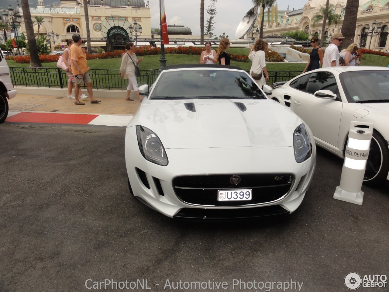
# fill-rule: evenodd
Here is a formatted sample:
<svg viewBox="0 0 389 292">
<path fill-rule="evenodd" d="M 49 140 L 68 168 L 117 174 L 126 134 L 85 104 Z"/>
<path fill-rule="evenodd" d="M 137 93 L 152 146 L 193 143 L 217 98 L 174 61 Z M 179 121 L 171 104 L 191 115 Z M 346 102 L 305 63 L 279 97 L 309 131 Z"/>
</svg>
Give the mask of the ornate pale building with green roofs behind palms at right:
<svg viewBox="0 0 389 292">
<path fill-rule="evenodd" d="M 330 0 L 329 2 L 335 6 L 335 14 L 341 16 L 341 20 L 336 26 L 335 23 L 331 23 L 331 26 L 326 26 L 326 29 L 322 32 L 322 22 L 314 25 L 312 17 L 320 11 L 321 7 L 325 7 L 326 0 L 308 0 L 302 9 L 294 10 L 293 8 L 293 10 L 289 10 L 288 6 L 286 10 L 278 10 L 277 14 L 265 11 L 264 37 L 280 35 L 282 32 L 303 30 L 309 36 L 317 34 L 321 37 L 324 33 L 326 42 L 331 42 L 335 33 L 342 32 L 346 0 Z M 388 51 L 388 13 L 389 0 L 359 0 L 354 42 L 367 49 Z M 260 17 L 261 14 L 259 13 L 257 23 L 259 23 Z M 352 40 L 349 42 L 352 43 Z"/>
</svg>

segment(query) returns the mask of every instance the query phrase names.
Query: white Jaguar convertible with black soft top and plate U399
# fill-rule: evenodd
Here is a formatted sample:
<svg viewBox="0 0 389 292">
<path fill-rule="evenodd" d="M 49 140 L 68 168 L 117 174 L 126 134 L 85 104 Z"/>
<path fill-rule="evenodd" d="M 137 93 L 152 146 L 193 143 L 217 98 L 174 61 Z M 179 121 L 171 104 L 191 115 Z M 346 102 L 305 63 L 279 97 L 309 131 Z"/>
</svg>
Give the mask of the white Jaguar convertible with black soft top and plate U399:
<svg viewBox="0 0 389 292">
<path fill-rule="evenodd" d="M 269 86 L 265 90 L 271 92 Z M 130 192 L 173 218 L 287 214 L 312 179 L 310 129 L 237 67 L 166 67 L 127 126 Z"/>
</svg>

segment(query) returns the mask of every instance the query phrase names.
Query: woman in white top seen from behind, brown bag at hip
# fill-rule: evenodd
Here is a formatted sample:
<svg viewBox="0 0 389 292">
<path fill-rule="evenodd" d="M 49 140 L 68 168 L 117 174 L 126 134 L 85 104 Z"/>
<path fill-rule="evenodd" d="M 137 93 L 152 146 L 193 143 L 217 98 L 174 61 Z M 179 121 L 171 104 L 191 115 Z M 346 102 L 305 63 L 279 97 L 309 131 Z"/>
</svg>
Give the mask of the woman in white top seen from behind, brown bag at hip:
<svg viewBox="0 0 389 292">
<path fill-rule="evenodd" d="M 268 43 L 263 39 L 258 39 L 254 46 L 250 45 L 251 50 L 249 53 L 249 59 L 251 60 L 250 76 L 255 80 L 260 88 L 266 84 L 269 80 L 269 74 L 266 69 L 266 57 L 265 51 L 268 47 Z M 266 75 L 266 77 L 264 76 Z"/>
</svg>

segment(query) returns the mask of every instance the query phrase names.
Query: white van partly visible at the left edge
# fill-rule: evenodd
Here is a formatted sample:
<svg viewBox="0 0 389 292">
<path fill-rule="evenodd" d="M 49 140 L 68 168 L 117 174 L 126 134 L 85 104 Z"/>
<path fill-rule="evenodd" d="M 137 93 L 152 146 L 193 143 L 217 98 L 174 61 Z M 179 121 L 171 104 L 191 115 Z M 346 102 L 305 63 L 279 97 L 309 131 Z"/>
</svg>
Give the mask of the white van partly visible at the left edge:
<svg viewBox="0 0 389 292">
<path fill-rule="evenodd" d="M 9 76 L 9 68 L 3 52 L 0 53 L 0 123 L 4 122 L 8 115 L 8 99 L 16 97 L 14 84 Z"/>
</svg>

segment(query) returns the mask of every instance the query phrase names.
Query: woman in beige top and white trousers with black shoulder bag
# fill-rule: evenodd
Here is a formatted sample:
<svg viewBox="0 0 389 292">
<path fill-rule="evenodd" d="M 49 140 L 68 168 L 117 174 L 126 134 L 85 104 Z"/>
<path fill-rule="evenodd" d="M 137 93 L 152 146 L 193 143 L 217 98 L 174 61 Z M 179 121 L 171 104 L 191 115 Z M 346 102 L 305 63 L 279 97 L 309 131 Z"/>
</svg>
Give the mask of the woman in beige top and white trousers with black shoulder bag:
<svg viewBox="0 0 389 292">
<path fill-rule="evenodd" d="M 128 42 L 125 48 L 127 51 L 122 57 L 122 62 L 120 65 L 120 77 L 128 79 L 126 100 L 133 101 L 133 99 L 130 97 L 131 89 L 133 88 L 135 94 L 139 98 L 139 101 L 142 101 L 143 97 L 141 97 L 139 94 L 137 76 L 135 76 L 135 66 L 138 67 L 143 58 L 139 58 L 139 60 L 137 59 L 137 55 L 135 55 L 137 47 L 133 42 Z"/>
</svg>

